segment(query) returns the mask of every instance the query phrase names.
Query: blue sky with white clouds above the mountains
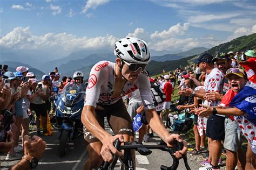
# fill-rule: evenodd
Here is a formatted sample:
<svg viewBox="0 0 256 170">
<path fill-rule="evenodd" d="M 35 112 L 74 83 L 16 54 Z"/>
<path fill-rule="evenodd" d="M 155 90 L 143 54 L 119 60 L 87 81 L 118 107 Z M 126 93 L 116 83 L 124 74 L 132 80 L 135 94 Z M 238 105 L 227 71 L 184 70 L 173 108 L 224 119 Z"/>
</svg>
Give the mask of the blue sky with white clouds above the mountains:
<svg viewBox="0 0 256 170">
<path fill-rule="evenodd" d="M 174 52 L 255 32 L 255 0 L 0 1 L 0 48 L 56 58 L 84 49 L 110 51 L 124 37 Z"/>
</svg>

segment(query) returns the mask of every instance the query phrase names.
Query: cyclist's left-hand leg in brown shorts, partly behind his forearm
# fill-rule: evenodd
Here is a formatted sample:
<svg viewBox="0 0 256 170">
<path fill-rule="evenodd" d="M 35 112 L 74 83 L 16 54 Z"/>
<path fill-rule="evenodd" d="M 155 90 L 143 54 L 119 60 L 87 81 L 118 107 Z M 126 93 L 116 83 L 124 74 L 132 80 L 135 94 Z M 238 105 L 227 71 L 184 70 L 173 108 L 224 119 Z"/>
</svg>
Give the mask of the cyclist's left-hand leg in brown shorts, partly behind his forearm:
<svg viewBox="0 0 256 170">
<path fill-rule="evenodd" d="M 104 112 L 105 109 L 99 105 L 97 105 L 95 109 L 95 117 L 99 122 L 100 126 L 104 128 Z M 100 164 L 102 164 L 103 158 L 100 155 L 100 150 L 102 149 L 102 143 L 95 138 L 84 126 L 84 139 L 86 141 L 86 149 L 89 154 L 89 158 L 86 160 L 84 164 L 84 169 L 92 169 L 98 168 Z"/>
</svg>

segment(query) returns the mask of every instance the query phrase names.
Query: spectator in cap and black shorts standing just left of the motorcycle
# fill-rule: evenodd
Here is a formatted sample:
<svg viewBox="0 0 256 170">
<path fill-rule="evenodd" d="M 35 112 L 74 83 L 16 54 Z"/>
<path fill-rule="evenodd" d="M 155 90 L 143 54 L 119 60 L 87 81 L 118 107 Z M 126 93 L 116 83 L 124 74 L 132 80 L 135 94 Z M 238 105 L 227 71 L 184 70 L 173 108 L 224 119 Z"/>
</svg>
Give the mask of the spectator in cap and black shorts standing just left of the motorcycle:
<svg viewBox="0 0 256 170">
<path fill-rule="evenodd" d="M 45 106 L 45 100 L 47 100 L 50 96 L 50 89 L 48 87 L 48 82 L 50 80 L 50 76 L 45 74 L 42 77 L 41 83 L 42 84 L 42 90 L 37 91 L 37 95 L 35 99 L 30 104 L 30 109 L 36 112 L 36 126 L 37 126 L 37 134 L 40 135 L 40 122 L 42 122 L 43 125 L 43 133 L 45 134 L 47 132 L 46 130 L 46 106 Z M 39 87 L 39 86 L 38 86 Z M 40 119 L 40 115 L 42 116 L 42 120 Z"/>
</svg>

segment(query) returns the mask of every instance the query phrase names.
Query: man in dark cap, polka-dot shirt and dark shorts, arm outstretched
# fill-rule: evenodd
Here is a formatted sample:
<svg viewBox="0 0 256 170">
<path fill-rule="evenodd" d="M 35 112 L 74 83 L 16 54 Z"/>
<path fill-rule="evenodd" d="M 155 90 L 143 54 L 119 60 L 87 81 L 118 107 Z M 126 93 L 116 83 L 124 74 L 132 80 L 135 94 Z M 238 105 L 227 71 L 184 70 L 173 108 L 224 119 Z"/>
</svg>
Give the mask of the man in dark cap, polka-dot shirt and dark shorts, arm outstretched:
<svg viewBox="0 0 256 170">
<path fill-rule="evenodd" d="M 204 98 L 210 91 L 220 92 L 222 91 L 221 82 L 223 81 L 224 74 L 220 72 L 218 68 L 214 68 L 212 63 L 213 56 L 208 53 L 203 53 L 199 56 L 196 62 L 199 64 L 201 72 L 206 72 L 206 79 L 204 82 L 203 93 L 194 91 L 190 88 L 185 88 L 178 92 L 180 95 L 194 95 L 199 98 Z M 196 80 L 195 80 L 196 81 Z M 197 83 L 196 83 L 197 84 Z M 204 100 L 203 104 L 207 106 L 217 106 L 219 101 Z M 206 125 L 206 137 L 208 137 L 209 158 L 201 162 L 200 169 L 219 169 L 219 158 L 221 155 L 221 140 L 225 138 L 225 116 L 223 115 L 211 115 L 207 119 Z"/>
</svg>

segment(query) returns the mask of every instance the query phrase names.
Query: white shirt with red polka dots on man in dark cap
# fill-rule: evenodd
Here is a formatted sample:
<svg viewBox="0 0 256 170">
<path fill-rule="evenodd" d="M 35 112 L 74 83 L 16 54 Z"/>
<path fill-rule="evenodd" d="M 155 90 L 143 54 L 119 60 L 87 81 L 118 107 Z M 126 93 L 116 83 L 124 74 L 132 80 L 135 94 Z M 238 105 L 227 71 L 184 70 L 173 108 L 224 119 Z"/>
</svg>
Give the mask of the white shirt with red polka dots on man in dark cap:
<svg viewBox="0 0 256 170">
<path fill-rule="evenodd" d="M 220 72 L 218 68 L 213 68 L 210 74 L 206 74 L 204 89 L 205 91 L 216 91 L 221 93 L 223 91 L 223 78 L 224 74 Z M 220 101 L 210 102 L 205 100 L 203 102 L 204 105 L 208 105 L 210 107 L 214 107 L 219 105 Z M 223 116 L 223 115 L 218 115 Z"/>
</svg>

